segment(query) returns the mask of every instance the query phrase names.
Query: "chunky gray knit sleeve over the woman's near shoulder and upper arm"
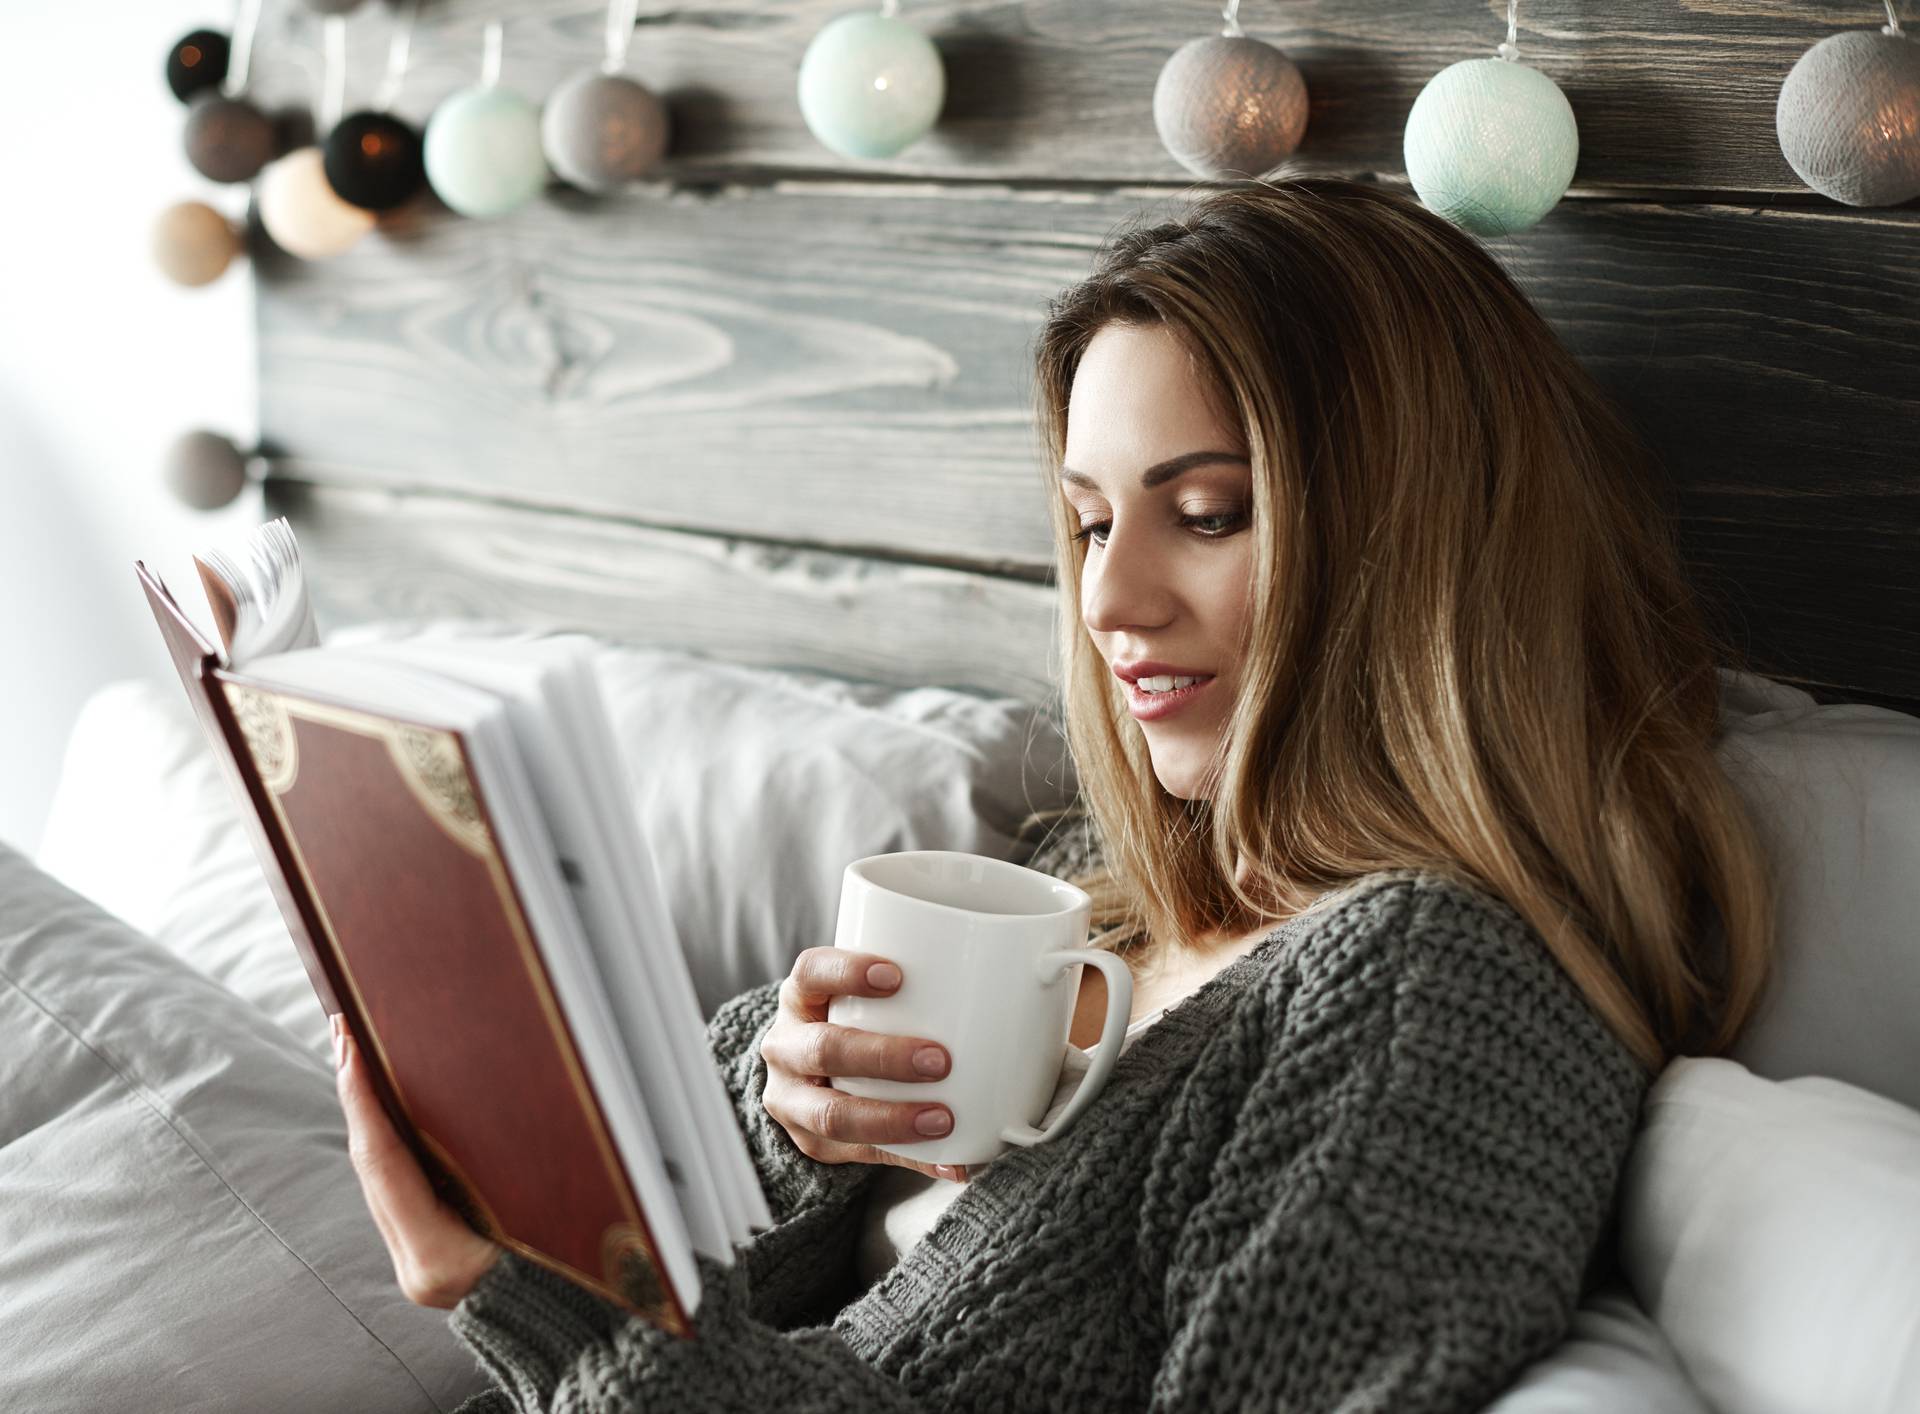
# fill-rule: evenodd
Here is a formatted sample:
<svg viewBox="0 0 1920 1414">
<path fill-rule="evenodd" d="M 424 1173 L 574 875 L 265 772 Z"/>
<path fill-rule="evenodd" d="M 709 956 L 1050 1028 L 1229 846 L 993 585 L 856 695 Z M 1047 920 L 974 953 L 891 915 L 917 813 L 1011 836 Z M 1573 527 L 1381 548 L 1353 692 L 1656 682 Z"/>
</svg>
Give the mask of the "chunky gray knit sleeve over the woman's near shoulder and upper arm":
<svg viewBox="0 0 1920 1414">
<path fill-rule="evenodd" d="M 1405 897 L 1302 966 L 1308 1024 L 1246 1037 L 1246 1101 L 1162 1218 L 1154 1410 L 1473 1414 L 1572 1324 L 1644 1070 L 1517 914 Z"/>
</svg>

